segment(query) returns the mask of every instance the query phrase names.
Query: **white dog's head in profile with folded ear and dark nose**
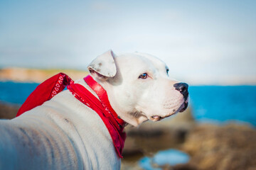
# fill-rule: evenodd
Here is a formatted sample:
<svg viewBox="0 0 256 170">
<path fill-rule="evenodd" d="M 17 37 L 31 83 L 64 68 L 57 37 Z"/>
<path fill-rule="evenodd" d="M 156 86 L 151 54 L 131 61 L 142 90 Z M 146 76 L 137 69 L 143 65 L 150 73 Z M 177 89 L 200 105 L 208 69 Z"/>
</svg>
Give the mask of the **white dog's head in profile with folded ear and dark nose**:
<svg viewBox="0 0 256 170">
<path fill-rule="evenodd" d="M 188 84 L 171 79 L 166 64 L 154 56 L 117 56 L 110 50 L 88 69 L 107 91 L 114 111 L 131 125 L 161 120 L 188 106 Z"/>
</svg>

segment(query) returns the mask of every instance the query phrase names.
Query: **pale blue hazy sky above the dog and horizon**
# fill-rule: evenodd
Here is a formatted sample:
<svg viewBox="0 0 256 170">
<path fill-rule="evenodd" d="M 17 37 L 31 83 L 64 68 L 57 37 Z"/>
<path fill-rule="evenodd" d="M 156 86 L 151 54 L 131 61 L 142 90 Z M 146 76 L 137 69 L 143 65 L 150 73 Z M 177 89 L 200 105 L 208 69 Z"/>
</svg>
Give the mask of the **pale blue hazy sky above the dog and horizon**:
<svg viewBox="0 0 256 170">
<path fill-rule="evenodd" d="M 256 84 L 256 1 L 0 0 L 0 68 L 146 52 L 188 84 Z"/>
</svg>

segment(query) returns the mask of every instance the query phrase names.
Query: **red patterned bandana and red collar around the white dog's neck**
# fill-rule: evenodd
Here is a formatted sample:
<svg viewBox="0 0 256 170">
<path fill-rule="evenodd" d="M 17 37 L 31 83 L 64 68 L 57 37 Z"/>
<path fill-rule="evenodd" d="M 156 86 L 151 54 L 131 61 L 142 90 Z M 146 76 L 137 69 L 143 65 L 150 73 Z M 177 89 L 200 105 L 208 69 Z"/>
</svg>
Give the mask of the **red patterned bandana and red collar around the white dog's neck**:
<svg viewBox="0 0 256 170">
<path fill-rule="evenodd" d="M 50 100 L 60 91 L 68 86 L 68 90 L 77 98 L 79 101 L 84 103 L 86 106 L 92 108 L 100 118 L 105 123 L 107 130 L 110 132 L 114 147 L 117 154 L 122 158 L 122 149 L 124 147 L 124 140 L 126 137 L 124 130 L 124 120 L 118 118 L 117 113 L 114 112 L 113 108 L 110 106 L 110 101 L 107 98 L 107 91 L 100 86 L 92 77 L 87 76 L 84 78 L 85 82 L 90 86 L 90 88 L 95 91 L 97 99 L 93 94 L 90 93 L 84 86 L 80 84 L 74 84 L 73 80 L 70 79 L 66 74 L 59 73 L 50 79 L 47 79 L 42 84 L 32 92 L 30 96 L 23 103 L 21 108 L 18 110 L 18 115 L 35 108 L 36 106 L 41 106 L 45 101 Z"/>
</svg>

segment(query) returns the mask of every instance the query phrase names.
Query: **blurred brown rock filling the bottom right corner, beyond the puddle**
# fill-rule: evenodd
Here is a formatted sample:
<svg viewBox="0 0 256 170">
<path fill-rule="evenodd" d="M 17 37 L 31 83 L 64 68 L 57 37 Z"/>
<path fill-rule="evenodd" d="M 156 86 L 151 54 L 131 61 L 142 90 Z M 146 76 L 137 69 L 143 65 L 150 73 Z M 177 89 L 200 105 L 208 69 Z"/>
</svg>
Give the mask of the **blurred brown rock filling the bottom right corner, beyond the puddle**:
<svg viewBox="0 0 256 170">
<path fill-rule="evenodd" d="M 255 169 L 256 130 L 238 124 L 198 125 L 182 149 L 198 169 Z"/>
</svg>

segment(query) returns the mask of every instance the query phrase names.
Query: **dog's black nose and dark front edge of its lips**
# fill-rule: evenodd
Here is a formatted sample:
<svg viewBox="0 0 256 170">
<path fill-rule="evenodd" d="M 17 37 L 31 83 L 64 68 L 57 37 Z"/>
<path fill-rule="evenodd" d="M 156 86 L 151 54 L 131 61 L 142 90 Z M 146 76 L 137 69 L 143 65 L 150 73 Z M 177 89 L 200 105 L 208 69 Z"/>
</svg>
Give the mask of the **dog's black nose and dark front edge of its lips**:
<svg viewBox="0 0 256 170">
<path fill-rule="evenodd" d="M 179 91 L 184 98 L 184 103 L 182 104 L 182 108 L 180 112 L 183 112 L 186 110 L 186 108 L 188 108 L 188 84 L 186 83 L 177 83 L 174 84 L 174 87 L 177 91 Z"/>
</svg>

